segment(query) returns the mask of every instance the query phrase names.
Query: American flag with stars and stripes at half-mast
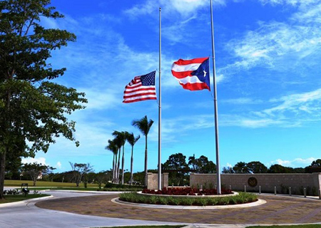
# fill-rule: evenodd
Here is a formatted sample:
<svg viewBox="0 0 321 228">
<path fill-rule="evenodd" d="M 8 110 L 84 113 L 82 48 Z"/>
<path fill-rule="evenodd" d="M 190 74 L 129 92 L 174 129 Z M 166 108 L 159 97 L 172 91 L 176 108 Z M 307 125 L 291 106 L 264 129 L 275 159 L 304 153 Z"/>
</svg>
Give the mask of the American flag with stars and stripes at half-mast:
<svg viewBox="0 0 321 228">
<path fill-rule="evenodd" d="M 156 100 L 155 73 L 136 76 L 123 91 L 123 103 L 133 103 L 141 100 Z"/>
</svg>

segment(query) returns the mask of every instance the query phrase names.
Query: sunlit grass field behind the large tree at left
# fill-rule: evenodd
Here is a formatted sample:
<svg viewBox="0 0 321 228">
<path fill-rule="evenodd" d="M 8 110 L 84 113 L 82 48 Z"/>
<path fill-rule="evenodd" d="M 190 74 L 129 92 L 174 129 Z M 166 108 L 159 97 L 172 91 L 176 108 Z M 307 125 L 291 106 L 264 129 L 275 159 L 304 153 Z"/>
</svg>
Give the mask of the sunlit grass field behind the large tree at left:
<svg viewBox="0 0 321 228">
<path fill-rule="evenodd" d="M 4 180 L 4 186 L 6 187 L 21 187 L 22 183 L 28 183 L 29 187 L 32 187 L 34 185 L 34 182 L 32 180 Z M 98 185 L 96 184 L 88 184 L 88 188 L 95 188 L 95 190 L 98 188 Z M 75 183 L 67 183 L 67 182 L 49 182 L 49 181 L 37 181 L 36 187 L 76 187 Z M 83 188 L 83 183 L 79 185 L 79 188 Z"/>
</svg>

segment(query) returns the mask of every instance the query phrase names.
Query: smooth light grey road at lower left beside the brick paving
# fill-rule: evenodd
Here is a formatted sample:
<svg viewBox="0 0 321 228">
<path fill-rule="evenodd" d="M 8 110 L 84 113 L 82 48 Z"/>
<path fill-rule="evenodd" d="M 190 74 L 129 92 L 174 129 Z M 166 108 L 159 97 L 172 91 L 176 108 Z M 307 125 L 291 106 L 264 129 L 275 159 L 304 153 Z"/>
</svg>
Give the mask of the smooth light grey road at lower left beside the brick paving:
<svg viewBox="0 0 321 228">
<path fill-rule="evenodd" d="M 74 192 L 46 192 L 56 198 L 61 197 L 81 197 L 93 194 Z M 39 199 L 41 200 L 41 199 Z M 34 204 L 38 202 L 24 202 L 21 204 L 0 207 L 0 227 L 41 227 L 41 228 L 78 228 L 78 227 L 111 227 L 128 225 L 147 224 L 175 224 L 172 222 L 151 222 L 134 219 L 117 219 L 108 217 L 97 217 L 90 215 L 72 214 L 68 212 L 58 212 L 50 209 L 41 209 Z M 176 223 L 177 224 L 177 223 Z"/>
</svg>

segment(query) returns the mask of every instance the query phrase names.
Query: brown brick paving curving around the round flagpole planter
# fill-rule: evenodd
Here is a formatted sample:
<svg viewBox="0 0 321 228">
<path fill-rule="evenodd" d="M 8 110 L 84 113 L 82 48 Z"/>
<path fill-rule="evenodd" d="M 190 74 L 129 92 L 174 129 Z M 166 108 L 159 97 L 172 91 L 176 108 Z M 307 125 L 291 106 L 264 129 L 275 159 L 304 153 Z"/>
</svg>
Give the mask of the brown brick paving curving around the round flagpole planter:
<svg viewBox="0 0 321 228">
<path fill-rule="evenodd" d="M 321 200 L 260 195 L 266 204 L 230 209 L 160 209 L 116 204 L 117 195 L 50 199 L 36 206 L 76 214 L 203 224 L 300 224 L 321 222 Z"/>
</svg>

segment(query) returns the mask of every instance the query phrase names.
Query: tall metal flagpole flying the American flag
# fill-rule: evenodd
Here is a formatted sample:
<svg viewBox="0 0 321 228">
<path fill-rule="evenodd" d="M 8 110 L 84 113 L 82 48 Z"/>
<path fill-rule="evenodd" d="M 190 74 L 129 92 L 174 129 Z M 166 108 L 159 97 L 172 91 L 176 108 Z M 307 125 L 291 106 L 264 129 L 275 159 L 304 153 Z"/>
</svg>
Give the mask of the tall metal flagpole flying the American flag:
<svg viewBox="0 0 321 228">
<path fill-rule="evenodd" d="M 158 83 L 158 190 L 162 189 L 162 90 L 161 90 L 161 7 L 159 8 L 159 83 Z"/>
</svg>

